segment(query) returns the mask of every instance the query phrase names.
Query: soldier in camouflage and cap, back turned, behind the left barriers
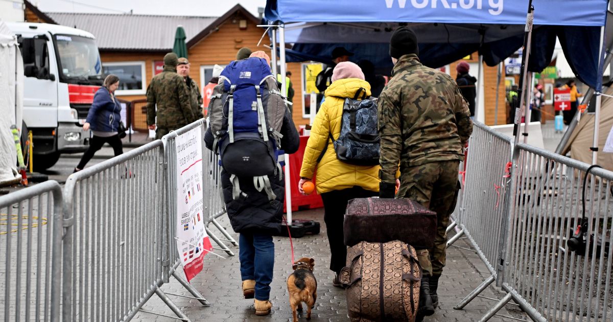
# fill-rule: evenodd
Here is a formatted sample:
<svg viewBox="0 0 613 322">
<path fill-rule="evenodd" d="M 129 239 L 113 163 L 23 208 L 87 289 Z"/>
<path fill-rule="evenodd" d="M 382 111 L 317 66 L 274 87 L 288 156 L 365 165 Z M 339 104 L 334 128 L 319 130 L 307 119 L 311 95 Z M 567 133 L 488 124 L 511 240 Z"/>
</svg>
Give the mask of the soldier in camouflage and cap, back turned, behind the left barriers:
<svg viewBox="0 0 613 322">
<path fill-rule="evenodd" d="M 147 125 L 156 130 L 156 139 L 197 120 L 189 104 L 188 86 L 177 74 L 177 64 L 177 55 L 167 53 L 164 71 L 155 75 L 147 87 Z"/>
</svg>

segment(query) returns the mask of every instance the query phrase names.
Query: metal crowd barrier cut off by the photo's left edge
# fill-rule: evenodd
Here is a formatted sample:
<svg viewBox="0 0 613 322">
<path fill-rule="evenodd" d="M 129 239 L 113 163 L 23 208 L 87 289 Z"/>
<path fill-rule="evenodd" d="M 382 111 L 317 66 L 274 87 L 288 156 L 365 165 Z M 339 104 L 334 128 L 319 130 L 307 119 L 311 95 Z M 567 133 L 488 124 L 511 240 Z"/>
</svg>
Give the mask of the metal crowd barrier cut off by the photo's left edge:
<svg viewBox="0 0 613 322">
<path fill-rule="evenodd" d="M 55 181 L 0 197 L 0 320 L 60 321 L 61 215 Z"/>
</svg>

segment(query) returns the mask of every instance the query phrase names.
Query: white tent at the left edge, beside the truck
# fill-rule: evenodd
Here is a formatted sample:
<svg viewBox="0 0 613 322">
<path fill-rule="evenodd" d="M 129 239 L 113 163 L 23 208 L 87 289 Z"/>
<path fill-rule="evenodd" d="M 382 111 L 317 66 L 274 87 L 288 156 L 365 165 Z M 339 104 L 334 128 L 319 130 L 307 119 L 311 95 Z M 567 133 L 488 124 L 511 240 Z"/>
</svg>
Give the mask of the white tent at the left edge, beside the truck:
<svg viewBox="0 0 613 322">
<path fill-rule="evenodd" d="M 17 177 L 17 150 L 10 127 L 21 129 L 23 61 L 17 37 L 0 20 L 0 182 Z"/>
</svg>

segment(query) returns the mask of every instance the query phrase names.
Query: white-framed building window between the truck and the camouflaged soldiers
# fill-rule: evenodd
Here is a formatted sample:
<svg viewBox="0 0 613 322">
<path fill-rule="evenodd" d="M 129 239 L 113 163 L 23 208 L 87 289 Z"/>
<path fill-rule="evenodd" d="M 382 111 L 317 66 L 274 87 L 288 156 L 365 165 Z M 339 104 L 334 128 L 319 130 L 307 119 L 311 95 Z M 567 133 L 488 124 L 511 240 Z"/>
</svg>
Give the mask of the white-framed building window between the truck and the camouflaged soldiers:
<svg viewBox="0 0 613 322">
<path fill-rule="evenodd" d="M 143 95 L 147 91 L 144 61 L 102 63 L 102 72 L 105 75 L 115 74 L 119 77 L 116 95 Z"/>
</svg>

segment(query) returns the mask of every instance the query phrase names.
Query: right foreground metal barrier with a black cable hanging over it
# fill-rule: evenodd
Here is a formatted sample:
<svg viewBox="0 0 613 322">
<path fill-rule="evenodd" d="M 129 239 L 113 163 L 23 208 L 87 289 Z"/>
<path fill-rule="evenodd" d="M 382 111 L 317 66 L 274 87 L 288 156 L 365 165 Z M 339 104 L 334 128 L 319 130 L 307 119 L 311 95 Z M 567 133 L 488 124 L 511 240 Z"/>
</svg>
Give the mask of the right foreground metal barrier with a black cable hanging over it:
<svg viewBox="0 0 613 322">
<path fill-rule="evenodd" d="M 504 263 L 498 282 L 508 292 L 484 317 L 510 299 L 535 321 L 611 321 L 613 172 L 590 171 L 585 190 L 585 256 L 566 242 L 582 217 L 589 164 L 519 144 L 513 156 Z"/>
</svg>

